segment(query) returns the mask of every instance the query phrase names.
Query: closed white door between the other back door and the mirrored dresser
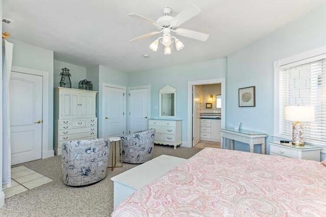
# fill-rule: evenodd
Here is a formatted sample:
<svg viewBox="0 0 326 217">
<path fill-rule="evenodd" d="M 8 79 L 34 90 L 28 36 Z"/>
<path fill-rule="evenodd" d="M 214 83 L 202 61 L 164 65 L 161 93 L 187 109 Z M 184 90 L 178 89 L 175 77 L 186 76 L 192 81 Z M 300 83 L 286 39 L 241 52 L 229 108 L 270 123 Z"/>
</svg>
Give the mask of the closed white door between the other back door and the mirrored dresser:
<svg viewBox="0 0 326 217">
<path fill-rule="evenodd" d="M 148 89 L 129 90 L 129 133 L 148 129 Z"/>
</svg>

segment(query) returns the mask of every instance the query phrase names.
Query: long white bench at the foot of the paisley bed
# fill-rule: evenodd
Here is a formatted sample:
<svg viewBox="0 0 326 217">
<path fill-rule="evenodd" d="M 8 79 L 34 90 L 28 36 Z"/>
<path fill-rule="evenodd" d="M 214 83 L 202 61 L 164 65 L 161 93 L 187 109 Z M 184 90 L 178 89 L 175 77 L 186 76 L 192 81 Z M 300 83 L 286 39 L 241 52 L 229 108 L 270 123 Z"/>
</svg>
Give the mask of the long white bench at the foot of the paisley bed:
<svg viewBox="0 0 326 217">
<path fill-rule="evenodd" d="M 183 158 L 161 155 L 144 164 L 111 178 L 114 181 L 114 210 L 132 193 L 140 190 L 174 167 L 186 161 Z"/>
</svg>

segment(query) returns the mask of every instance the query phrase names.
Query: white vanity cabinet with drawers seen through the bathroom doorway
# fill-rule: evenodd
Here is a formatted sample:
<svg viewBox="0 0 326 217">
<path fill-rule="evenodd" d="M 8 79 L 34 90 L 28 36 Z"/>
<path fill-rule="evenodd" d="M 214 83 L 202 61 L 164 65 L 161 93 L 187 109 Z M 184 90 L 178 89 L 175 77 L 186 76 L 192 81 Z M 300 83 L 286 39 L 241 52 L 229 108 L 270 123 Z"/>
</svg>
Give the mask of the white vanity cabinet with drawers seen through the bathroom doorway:
<svg viewBox="0 0 326 217">
<path fill-rule="evenodd" d="M 221 141 L 221 120 L 200 119 L 200 140 Z"/>
</svg>

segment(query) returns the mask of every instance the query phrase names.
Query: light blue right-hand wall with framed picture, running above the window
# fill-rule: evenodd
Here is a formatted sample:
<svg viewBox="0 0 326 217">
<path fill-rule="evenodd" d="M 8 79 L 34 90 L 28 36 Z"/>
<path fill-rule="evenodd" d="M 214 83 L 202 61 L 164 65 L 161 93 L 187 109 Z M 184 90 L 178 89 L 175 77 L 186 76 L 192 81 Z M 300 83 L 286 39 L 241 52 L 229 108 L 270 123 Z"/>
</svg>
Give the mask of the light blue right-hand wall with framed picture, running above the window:
<svg viewBox="0 0 326 217">
<path fill-rule="evenodd" d="M 275 60 L 326 45 L 326 7 L 319 8 L 228 55 L 227 126 L 273 135 Z M 238 88 L 256 86 L 256 107 L 238 107 Z M 236 145 L 249 150 L 248 146 Z M 258 148 L 255 151 L 259 151 Z M 267 153 L 269 146 L 267 145 Z"/>
</svg>

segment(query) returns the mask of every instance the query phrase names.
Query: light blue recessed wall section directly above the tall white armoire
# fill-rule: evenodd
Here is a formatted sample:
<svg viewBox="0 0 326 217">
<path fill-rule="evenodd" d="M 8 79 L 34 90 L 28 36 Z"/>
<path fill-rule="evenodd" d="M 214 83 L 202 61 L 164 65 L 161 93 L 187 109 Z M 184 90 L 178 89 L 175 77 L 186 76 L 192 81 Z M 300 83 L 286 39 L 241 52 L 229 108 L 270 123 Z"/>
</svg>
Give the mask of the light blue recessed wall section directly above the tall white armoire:
<svg viewBox="0 0 326 217">
<path fill-rule="evenodd" d="M 54 87 L 56 88 L 59 86 L 59 82 L 61 79 L 60 73 L 62 72 L 61 69 L 65 67 L 70 70 L 69 72 L 71 74 L 70 77 L 71 88 L 78 89 L 79 81 L 86 79 L 86 68 L 82 66 L 66 63 L 64 61 L 59 61 L 57 59 L 54 60 L 54 75 L 53 75 Z"/>
</svg>

